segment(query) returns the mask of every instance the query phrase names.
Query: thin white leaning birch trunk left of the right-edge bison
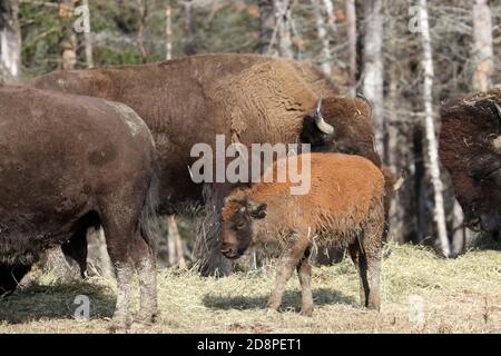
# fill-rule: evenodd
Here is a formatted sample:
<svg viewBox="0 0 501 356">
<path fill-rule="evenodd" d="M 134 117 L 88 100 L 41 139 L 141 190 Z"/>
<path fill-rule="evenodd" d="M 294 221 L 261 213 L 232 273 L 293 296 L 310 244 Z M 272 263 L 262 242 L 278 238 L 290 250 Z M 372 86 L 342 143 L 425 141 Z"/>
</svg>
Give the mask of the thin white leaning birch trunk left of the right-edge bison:
<svg viewBox="0 0 501 356">
<path fill-rule="evenodd" d="M 439 166 L 439 150 L 436 144 L 435 122 L 433 118 L 433 56 L 431 48 L 430 24 L 428 20 L 428 4 L 426 0 L 420 0 L 420 23 L 421 36 L 423 46 L 423 59 L 422 67 L 424 69 L 424 86 L 423 86 L 423 100 L 424 100 L 424 128 L 425 139 L 428 144 L 429 155 L 429 169 L 431 182 L 433 186 L 433 218 L 436 224 L 436 233 L 442 248 L 442 254 L 449 257 L 451 254 L 448 230 L 445 225 L 445 211 L 443 205 L 443 182 L 440 177 Z"/>
</svg>

